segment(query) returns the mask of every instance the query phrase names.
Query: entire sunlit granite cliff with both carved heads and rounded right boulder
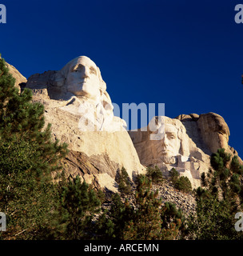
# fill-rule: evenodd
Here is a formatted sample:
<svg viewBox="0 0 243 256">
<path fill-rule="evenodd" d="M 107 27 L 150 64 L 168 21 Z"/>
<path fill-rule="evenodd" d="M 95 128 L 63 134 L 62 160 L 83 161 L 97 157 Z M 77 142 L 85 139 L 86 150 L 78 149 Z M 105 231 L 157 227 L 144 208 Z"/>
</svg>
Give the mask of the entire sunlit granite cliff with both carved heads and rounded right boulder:
<svg viewBox="0 0 243 256">
<path fill-rule="evenodd" d="M 114 179 L 122 166 L 131 179 L 144 174 L 146 166 L 158 166 L 165 175 L 174 167 L 197 187 L 218 148 L 237 155 L 228 145 L 229 127 L 214 113 L 154 117 L 146 129 L 127 132 L 125 121 L 114 116 L 101 71 L 85 56 L 74 58 L 62 70 L 34 74 L 28 80 L 8 67 L 15 86 L 30 88 L 33 101 L 45 106 L 54 140 L 68 143 L 66 175 L 78 174 L 97 188 L 116 192 Z"/>
</svg>

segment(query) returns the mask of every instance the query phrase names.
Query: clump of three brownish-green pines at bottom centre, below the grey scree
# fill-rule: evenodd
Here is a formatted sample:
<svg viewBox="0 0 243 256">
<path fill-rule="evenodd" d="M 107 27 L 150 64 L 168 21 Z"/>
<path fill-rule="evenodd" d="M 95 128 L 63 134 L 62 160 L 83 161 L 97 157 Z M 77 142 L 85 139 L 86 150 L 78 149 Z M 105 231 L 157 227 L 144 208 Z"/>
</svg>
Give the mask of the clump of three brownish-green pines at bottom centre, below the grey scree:
<svg viewBox="0 0 243 256">
<path fill-rule="evenodd" d="M 181 210 L 171 203 L 162 206 L 158 191 L 152 191 L 151 180 L 140 174 L 134 205 L 114 194 L 110 210 L 100 216 L 96 230 L 101 239 L 173 239 L 184 228 L 184 222 Z"/>
</svg>

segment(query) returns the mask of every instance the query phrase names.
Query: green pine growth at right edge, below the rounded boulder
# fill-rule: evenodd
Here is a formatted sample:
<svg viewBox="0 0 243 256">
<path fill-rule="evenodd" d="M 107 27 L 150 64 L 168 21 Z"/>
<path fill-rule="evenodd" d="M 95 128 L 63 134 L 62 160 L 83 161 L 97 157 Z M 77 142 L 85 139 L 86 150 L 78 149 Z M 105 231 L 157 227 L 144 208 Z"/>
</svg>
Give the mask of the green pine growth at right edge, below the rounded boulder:
<svg viewBox="0 0 243 256">
<path fill-rule="evenodd" d="M 234 216 L 243 208 L 243 167 L 225 149 L 212 154 L 210 162 L 213 169 L 201 175 L 205 187 L 195 193 L 197 216 L 189 220 L 190 235 L 194 239 L 242 239 L 234 230 Z"/>
</svg>

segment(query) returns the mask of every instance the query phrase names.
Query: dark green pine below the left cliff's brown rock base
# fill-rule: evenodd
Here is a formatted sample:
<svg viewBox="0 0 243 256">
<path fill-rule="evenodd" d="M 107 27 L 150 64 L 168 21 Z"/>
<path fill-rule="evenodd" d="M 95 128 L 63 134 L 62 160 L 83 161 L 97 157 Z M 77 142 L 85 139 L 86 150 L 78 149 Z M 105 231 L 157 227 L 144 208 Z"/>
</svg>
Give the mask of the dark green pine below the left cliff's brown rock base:
<svg viewBox="0 0 243 256">
<path fill-rule="evenodd" d="M 61 238 L 77 240 L 92 238 L 92 218 L 100 211 L 96 193 L 79 176 L 62 185 L 61 190 Z"/>
</svg>

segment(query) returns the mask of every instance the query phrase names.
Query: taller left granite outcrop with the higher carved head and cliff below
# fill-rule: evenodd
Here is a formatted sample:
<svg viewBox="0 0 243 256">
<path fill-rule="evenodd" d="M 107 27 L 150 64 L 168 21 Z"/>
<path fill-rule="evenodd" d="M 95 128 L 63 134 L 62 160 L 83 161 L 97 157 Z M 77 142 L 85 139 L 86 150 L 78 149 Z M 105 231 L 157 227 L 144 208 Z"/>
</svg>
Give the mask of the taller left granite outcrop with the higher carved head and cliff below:
<svg viewBox="0 0 243 256">
<path fill-rule="evenodd" d="M 114 116 L 106 82 L 90 58 L 78 57 L 60 71 L 34 74 L 26 87 L 33 90 L 33 100 L 45 106 L 54 139 L 69 145 L 68 175 L 79 174 L 88 183 L 117 191 L 114 178 L 122 166 L 131 179 L 145 172 L 125 121 Z"/>
</svg>

